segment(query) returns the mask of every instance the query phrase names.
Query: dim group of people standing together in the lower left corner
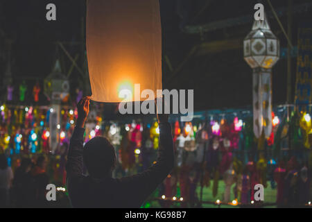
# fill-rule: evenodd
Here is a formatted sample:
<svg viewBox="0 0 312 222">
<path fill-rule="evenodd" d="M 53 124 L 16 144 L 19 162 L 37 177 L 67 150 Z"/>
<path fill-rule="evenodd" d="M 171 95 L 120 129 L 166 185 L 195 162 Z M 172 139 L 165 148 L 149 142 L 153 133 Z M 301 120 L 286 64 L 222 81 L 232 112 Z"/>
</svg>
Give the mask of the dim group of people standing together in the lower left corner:
<svg viewBox="0 0 312 222">
<path fill-rule="evenodd" d="M 46 157 L 22 158 L 13 175 L 6 155 L 0 155 L 0 207 L 46 207 Z"/>
</svg>

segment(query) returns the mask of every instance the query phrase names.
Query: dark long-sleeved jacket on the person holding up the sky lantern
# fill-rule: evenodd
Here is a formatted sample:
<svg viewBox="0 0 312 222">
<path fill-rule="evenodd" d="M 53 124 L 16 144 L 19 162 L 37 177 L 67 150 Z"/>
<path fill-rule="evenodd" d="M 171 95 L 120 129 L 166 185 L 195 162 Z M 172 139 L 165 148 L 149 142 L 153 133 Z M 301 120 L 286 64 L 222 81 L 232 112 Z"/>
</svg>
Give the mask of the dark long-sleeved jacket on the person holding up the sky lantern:
<svg viewBox="0 0 312 222">
<path fill-rule="evenodd" d="M 73 207 L 140 207 L 173 169 L 169 123 L 159 123 L 159 156 L 143 173 L 125 178 L 83 176 L 84 128 L 75 128 L 67 157 L 67 189 Z"/>
</svg>

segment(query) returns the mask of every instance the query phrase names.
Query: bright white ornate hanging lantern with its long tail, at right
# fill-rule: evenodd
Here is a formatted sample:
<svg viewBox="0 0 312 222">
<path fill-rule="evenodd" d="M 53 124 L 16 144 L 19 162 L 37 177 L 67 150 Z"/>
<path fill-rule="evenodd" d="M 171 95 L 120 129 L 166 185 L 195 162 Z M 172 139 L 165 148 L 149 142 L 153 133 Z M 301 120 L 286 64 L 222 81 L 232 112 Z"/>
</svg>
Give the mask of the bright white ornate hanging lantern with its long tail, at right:
<svg viewBox="0 0 312 222">
<path fill-rule="evenodd" d="M 271 69 L 279 60 L 279 40 L 270 30 L 268 19 L 254 21 L 252 31 L 243 42 L 244 59 L 253 69 L 252 97 L 254 135 L 262 131 L 270 137 L 272 131 L 272 83 Z"/>
</svg>

